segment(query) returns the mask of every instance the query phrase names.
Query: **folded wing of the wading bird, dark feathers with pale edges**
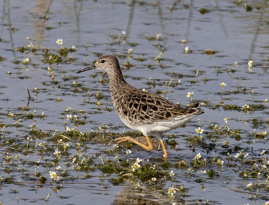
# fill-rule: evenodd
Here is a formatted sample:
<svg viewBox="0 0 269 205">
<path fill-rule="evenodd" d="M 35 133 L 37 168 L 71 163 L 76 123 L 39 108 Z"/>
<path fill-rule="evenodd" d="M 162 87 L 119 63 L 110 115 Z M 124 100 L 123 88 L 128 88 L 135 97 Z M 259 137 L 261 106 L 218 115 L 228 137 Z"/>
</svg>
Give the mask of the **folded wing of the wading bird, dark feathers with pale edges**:
<svg viewBox="0 0 269 205">
<path fill-rule="evenodd" d="M 179 107 L 156 94 L 139 93 L 122 96 L 118 99 L 117 112 L 129 119 L 139 122 L 167 121 L 177 116 L 185 116 L 199 112 L 200 103 L 190 108 Z"/>
</svg>

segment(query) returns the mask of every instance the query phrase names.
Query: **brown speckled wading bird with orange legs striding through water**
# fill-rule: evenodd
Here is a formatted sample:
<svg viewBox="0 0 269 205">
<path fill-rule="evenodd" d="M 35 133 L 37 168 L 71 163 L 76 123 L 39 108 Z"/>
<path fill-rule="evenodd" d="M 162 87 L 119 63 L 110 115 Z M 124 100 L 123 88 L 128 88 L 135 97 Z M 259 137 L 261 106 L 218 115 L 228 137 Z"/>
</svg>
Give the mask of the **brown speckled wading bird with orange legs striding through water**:
<svg viewBox="0 0 269 205">
<path fill-rule="evenodd" d="M 144 149 L 152 150 L 153 146 L 149 140 L 149 136 L 152 135 L 160 140 L 164 151 L 163 157 L 167 158 L 162 140 L 163 132 L 178 128 L 194 116 L 204 113 L 202 108 L 198 108 L 200 103 L 190 107 L 179 107 L 161 96 L 129 85 L 123 78 L 118 59 L 114 55 L 101 56 L 94 65 L 77 73 L 92 69 L 104 70 L 108 73 L 111 97 L 119 118 L 129 128 L 142 132 L 148 146 L 130 136 L 117 138 L 115 140 L 117 143 L 129 141 Z"/>
</svg>

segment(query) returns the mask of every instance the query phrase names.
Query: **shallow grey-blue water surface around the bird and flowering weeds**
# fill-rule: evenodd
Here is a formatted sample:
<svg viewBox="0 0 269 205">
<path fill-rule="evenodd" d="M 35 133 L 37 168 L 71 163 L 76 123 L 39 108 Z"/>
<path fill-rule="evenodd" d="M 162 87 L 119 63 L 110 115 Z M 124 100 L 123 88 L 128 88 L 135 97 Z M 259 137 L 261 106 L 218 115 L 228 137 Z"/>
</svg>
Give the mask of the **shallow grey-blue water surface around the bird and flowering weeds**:
<svg viewBox="0 0 269 205">
<path fill-rule="evenodd" d="M 245 3 L 252 8 L 251 11 L 246 10 Z M 268 2 L 244 1 L 237 5 L 235 1 L 22 2 L 6 0 L 0 5 L 2 8 L 0 56 L 3 57 L 0 62 L 1 129 L 6 125 L 0 133 L 0 153 L 2 153 L 0 161 L 1 164 L 5 162 L 0 169 L 0 176 L 3 177 L 0 182 L 1 203 L 17 203 L 17 197 L 19 197 L 19 204 L 41 203 L 48 193 L 51 193 L 46 201 L 48 204 L 89 202 L 130 204 L 130 201 L 135 200 L 141 203 L 150 201 L 152 204 L 170 202 L 197 204 L 196 201 L 201 198 L 203 200 L 199 202 L 200 204 L 206 204 L 206 200 L 209 204 L 211 202 L 213 204 L 254 204 L 255 200 L 256 204 L 264 204 L 269 200 L 267 188 L 254 186 L 259 184 L 259 181 L 263 185 L 267 184 L 268 169 L 263 169 L 261 176 L 241 177 L 242 171 L 253 171 L 251 169 L 253 165 L 246 162 L 248 161 L 246 158 L 237 161 L 234 157 L 240 150 L 244 150 L 242 155 L 249 153 L 249 159 L 256 160 L 259 168 L 262 163 L 266 163 L 264 155 L 260 153 L 266 149 L 268 151 L 268 140 L 257 139 L 252 133 L 253 129 L 256 129 L 255 133 L 265 132 L 268 129 L 268 121 L 266 122 L 269 118 L 268 103 L 264 102 L 265 99 L 269 100 L 268 62 L 265 57 L 269 52 Z M 207 9 L 208 12 L 202 14 L 200 12 L 202 8 Z M 126 32 L 124 35 L 123 30 Z M 159 39 L 156 39 L 157 34 L 161 34 Z M 121 36 L 119 43 L 118 36 Z M 36 51 L 33 51 L 31 46 L 26 48 L 29 44 L 27 37 L 31 38 Z M 75 52 L 69 51 L 66 57 L 62 56 L 62 61 L 58 64 L 44 63 L 44 49 L 59 55 L 61 46 L 55 42 L 58 38 L 63 39 L 63 47 L 70 49 L 74 45 Z M 185 44 L 181 42 L 183 39 L 186 40 Z M 22 46 L 25 48 L 24 52 L 16 51 Z M 188 54 L 185 53 L 186 46 L 190 50 Z M 128 55 L 130 48 L 134 50 Z M 206 49 L 212 49 L 216 53 L 204 54 Z M 154 62 L 154 58 L 161 52 L 163 58 L 158 64 L 158 61 Z M 206 145 L 215 143 L 212 150 L 207 151 L 207 147 L 203 147 L 203 144 L 194 145 L 195 149 L 193 149 L 185 137 L 185 135 L 189 137 L 197 135 L 195 132 L 199 126 L 197 118 L 188 122 L 185 128 L 169 132 L 178 136 L 173 138 L 178 142 L 178 150 L 168 146 L 168 161 L 173 164 L 185 160 L 189 164 L 188 168 L 193 169 L 194 172 L 186 174 L 186 168 L 169 167 L 167 171 L 174 170 L 174 182 L 168 177 L 166 179 L 160 177 L 154 184 L 139 180 L 125 180 L 114 185 L 111 179 L 120 175 L 105 174 L 96 167 L 93 171 L 87 171 L 91 178 L 83 179 L 86 171 L 76 171 L 72 167 L 74 165 L 72 159 L 70 161 L 70 156 L 77 154 L 75 148 L 78 141 L 72 139 L 68 141 L 71 145 L 68 149 L 69 155 L 62 156 L 59 160 L 61 172 L 66 169 L 69 176 L 61 183 L 59 181 L 50 183 L 51 168 L 45 168 L 44 165 L 47 161 L 55 160 L 53 151 L 58 148 L 58 145 L 49 139 L 56 129 L 64 132 L 65 126 L 74 127 L 75 119 L 66 118 L 67 114 L 72 114 L 72 109 L 75 109 L 74 114 L 78 115 L 78 119 L 86 122 L 86 125 L 76 127 L 80 132 L 85 133 L 90 130 L 97 132 L 98 125 L 103 127 L 104 123 L 111 132 L 124 131 L 124 125 L 118 118 L 111 101 L 108 75 L 96 70 L 76 74 L 77 70 L 86 66 L 85 63 L 91 65 L 98 56 L 105 54 L 118 57 L 126 81 L 134 87 L 150 92 L 162 91 L 162 96 L 184 106 L 191 103 L 190 98 L 187 98 L 187 92 L 194 92 L 193 101 L 207 101 L 203 105 L 205 113 L 199 115 L 201 128 L 204 129 L 201 141 Z M 69 56 L 72 58 L 71 62 Z M 26 58 L 30 58 L 27 68 L 26 64 L 23 64 Z M 248 69 L 249 60 L 253 61 L 252 72 Z M 133 67 L 126 69 L 124 66 L 126 61 L 129 61 Z M 226 71 L 235 61 L 238 63 L 238 67 L 234 66 L 235 72 L 231 72 L 231 69 L 227 73 Z M 53 74 L 48 71 L 48 66 Z M 171 86 L 168 86 L 171 70 L 173 76 Z M 196 70 L 199 70 L 197 77 Z M 179 84 L 178 80 L 180 80 Z M 76 84 L 73 84 L 74 81 Z M 220 83 L 222 82 L 226 86 L 223 87 L 221 94 Z M 30 100 L 27 89 L 31 96 Z M 96 96 L 97 91 L 99 96 Z M 163 93 L 164 91 L 166 93 Z M 27 115 L 25 108 L 28 100 Z M 100 107 L 97 101 L 100 102 Z M 106 103 L 111 112 L 105 109 Z M 230 104 L 237 105 L 238 109 L 225 111 L 223 105 Z M 263 107 L 243 112 L 242 106 L 245 104 L 261 104 Z M 22 107 L 24 107 L 23 112 Z M 69 107 L 72 109 L 66 111 Z M 34 110 L 36 113 L 33 118 L 29 117 Z M 84 110 L 85 113 L 77 112 L 79 110 Z M 41 116 L 42 112 L 44 116 Z M 13 117 L 8 113 L 13 113 Z M 15 126 L 14 129 L 12 124 L 20 118 L 22 119 L 22 122 L 19 122 L 20 126 Z M 219 128 L 224 125 L 223 118 L 230 118 L 228 125 L 232 132 L 240 129 L 239 140 L 232 134 L 209 136 L 214 132 L 210 125 L 217 124 Z M 253 119 L 257 119 L 257 125 L 254 125 Z M 30 133 L 30 125 L 34 121 L 38 125 L 37 129 L 49 135 L 41 139 L 34 137 Z M 126 131 L 129 129 L 125 128 Z M 26 145 L 26 135 L 33 139 L 29 142 L 30 150 L 33 152 L 25 152 L 25 149 L 17 149 L 15 146 L 16 143 L 19 146 Z M 167 139 L 167 133 L 164 139 Z M 38 149 L 34 148 L 36 142 L 43 141 L 47 147 L 52 148 L 52 151 L 43 153 L 38 150 L 40 146 L 37 146 Z M 223 147 L 225 141 L 228 142 L 229 149 Z M 100 156 L 104 159 L 109 157 L 112 161 L 116 161 L 115 155 L 125 159 L 126 147 L 119 147 L 117 154 L 110 155 L 105 151 L 112 149 L 113 143 L 109 145 L 109 142 L 99 143 L 89 140 L 85 144 L 88 144 L 85 156 L 93 157 L 95 165 L 101 163 Z M 238 150 L 236 145 L 239 147 Z M 9 149 L 10 147 L 14 148 L 13 151 L 10 151 L 12 150 Z M 132 153 L 128 155 L 129 160 L 139 157 L 144 161 L 149 159 L 151 162 L 160 163 L 161 150 L 148 152 L 137 146 L 133 146 L 131 150 Z M 226 151 L 232 157 L 229 162 Z M 11 156 L 9 163 L 5 159 L 6 152 Z M 201 153 L 202 158 L 207 158 L 206 167 L 192 166 L 193 158 L 198 153 Z M 12 164 L 12 155 L 20 155 L 20 161 L 25 160 L 25 162 L 19 165 L 15 158 L 15 164 Z M 212 162 L 217 156 L 224 161 L 223 165 L 218 166 Z M 267 157 L 268 153 L 266 153 Z M 37 165 L 29 163 L 36 162 L 38 159 L 41 160 L 37 171 L 47 178 L 45 183 L 31 179 L 34 178 L 34 168 Z M 66 166 L 68 162 L 72 164 L 70 167 Z M 234 167 L 229 166 L 229 163 L 235 163 Z M 220 175 L 210 178 L 205 174 L 203 180 L 197 181 L 202 177 L 201 170 L 210 169 L 218 174 L 220 172 Z M 72 176 L 75 177 L 74 181 L 71 179 Z M 12 179 L 10 183 L 7 181 L 9 177 Z M 21 182 L 18 184 L 19 180 Z M 140 183 L 141 189 L 137 188 L 136 183 Z M 246 188 L 248 183 L 253 183 L 252 192 Z M 60 184 L 62 188 L 56 191 L 54 188 Z M 167 192 L 169 187 L 180 187 L 181 184 L 186 189 L 185 198 L 178 192 L 175 199 L 164 194 L 164 190 Z M 257 191 L 259 194 L 254 200 Z"/>
</svg>

